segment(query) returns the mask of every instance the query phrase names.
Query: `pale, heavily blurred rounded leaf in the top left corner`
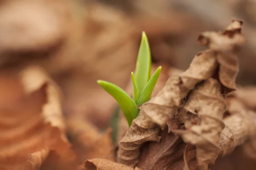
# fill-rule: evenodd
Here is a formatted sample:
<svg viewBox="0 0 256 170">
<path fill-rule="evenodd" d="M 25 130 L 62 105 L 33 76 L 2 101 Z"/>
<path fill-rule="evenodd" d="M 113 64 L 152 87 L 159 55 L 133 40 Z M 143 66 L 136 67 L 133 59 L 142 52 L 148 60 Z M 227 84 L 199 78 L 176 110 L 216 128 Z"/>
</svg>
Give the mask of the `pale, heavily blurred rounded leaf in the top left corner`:
<svg viewBox="0 0 256 170">
<path fill-rule="evenodd" d="M 0 8 L 2 53 L 44 51 L 58 44 L 70 31 L 70 24 L 67 23 L 70 22 L 71 14 L 63 1 L 10 0 L 1 3 Z M 0 57 L 0 65 L 5 60 L 12 60 L 3 56 Z"/>
</svg>

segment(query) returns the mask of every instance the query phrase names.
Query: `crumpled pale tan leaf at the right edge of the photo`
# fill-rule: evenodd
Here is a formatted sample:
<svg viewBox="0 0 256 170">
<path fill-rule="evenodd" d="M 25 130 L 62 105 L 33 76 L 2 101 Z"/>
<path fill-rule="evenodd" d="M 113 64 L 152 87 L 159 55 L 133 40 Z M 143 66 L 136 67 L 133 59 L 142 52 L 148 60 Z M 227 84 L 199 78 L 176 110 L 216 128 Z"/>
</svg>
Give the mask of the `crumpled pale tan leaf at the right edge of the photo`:
<svg viewBox="0 0 256 170">
<path fill-rule="evenodd" d="M 251 94 L 255 94 L 255 88 L 242 88 L 228 95 L 227 111 L 230 115 L 224 118 L 225 128 L 221 131 L 222 150 L 219 156 L 231 153 L 236 146 L 246 142 L 245 152 L 256 158 L 256 103 L 252 105 Z M 248 98 L 245 98 L 246 95 Z"/>
</svg>

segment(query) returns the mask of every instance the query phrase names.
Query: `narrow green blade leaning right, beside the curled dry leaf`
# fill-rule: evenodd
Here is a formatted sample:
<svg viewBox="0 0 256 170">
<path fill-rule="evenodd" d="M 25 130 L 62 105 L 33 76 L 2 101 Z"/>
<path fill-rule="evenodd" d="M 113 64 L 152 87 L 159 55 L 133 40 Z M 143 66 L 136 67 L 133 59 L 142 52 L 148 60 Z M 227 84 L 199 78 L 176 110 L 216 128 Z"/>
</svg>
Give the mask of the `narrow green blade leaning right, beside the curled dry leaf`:
<svg viewBox="0 0 256 170">
<path fill-rule="evenodd" d="M 153 76 L 149 79 L 147 85 L 145 86 L 142 94 L 140 95 L 140 99 L 137 102 L 137 105 L 141 105 L 145 102 L 147 102 L 150 99 L 150 96 L 154 90 L 154 86 L 157 83 L 157 79 L 160 75 L 162 67 L 158 67 L 157 70 L 154 72 Z"/>
</svg>

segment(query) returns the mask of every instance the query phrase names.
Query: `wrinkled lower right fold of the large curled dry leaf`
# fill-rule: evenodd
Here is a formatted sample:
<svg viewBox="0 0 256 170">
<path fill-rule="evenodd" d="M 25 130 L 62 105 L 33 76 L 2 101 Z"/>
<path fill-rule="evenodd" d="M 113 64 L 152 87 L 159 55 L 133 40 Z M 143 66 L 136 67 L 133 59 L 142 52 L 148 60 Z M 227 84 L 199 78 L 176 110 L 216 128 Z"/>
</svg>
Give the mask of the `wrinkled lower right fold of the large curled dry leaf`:
<svg viewBox="0 0 256 170">
<path fill-rule="evenodd" d="M 196 145 L 198 166 L 205 161 L 211 161 L 213 159 L 211 152 L 221 149 L 218 142 L 221 130 L 224 128 L 222 117 L 225 109 L 221 85 L 218 80 L 208 79 L 188 95 L 182 111 L 178 113 L 181 117 L 187 114 L 197 115 L 192 119 L 181 121 L 184 121 L 187 130 L 172 131 L 182 136 L 184 142 Z"/>
</svg>

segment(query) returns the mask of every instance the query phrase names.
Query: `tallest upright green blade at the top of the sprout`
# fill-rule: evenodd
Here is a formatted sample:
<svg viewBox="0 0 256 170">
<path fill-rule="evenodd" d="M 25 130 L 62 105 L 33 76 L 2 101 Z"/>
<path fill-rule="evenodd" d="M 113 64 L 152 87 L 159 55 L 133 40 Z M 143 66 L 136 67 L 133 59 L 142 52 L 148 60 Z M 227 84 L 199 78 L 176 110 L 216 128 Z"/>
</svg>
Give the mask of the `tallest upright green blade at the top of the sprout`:
<svg viewBox="0 0 256 170">
<path fill-rule="evenodd" d="M 151 75 L 151 53 L 148 43 L 148 37 L 142 32 L 140 49 L 137 58 L 135 77 L 139 94 L 142 93 Z"/>
</svg>

